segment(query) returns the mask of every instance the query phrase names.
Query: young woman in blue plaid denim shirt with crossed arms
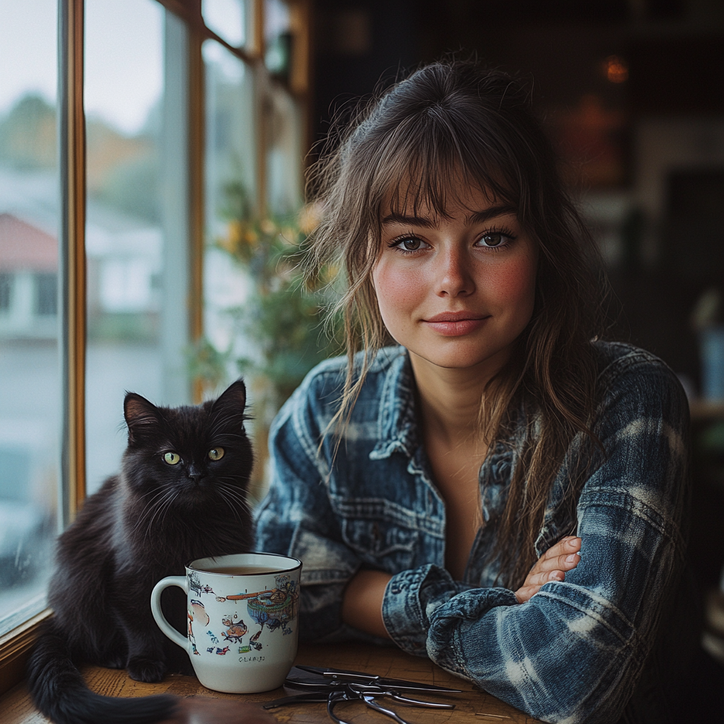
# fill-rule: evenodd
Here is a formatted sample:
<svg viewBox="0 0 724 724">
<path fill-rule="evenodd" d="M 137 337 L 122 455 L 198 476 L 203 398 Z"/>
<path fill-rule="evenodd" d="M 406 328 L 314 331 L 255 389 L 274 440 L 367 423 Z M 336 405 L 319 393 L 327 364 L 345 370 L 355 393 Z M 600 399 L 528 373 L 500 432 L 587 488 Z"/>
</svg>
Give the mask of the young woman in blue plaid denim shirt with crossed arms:
<svg viewBox="0 0 724 724">
<path fill-rule="evenodd" d="M 277 416 L 257 511 L 259 550 L 303 560 L 303 633 L 392 639 L 545 721 L 668 721 L 688 406 L 596 340 L 596 255 L 526 90 L 424 67 L 316 187 L 348 357 Z"/>
</svg>

